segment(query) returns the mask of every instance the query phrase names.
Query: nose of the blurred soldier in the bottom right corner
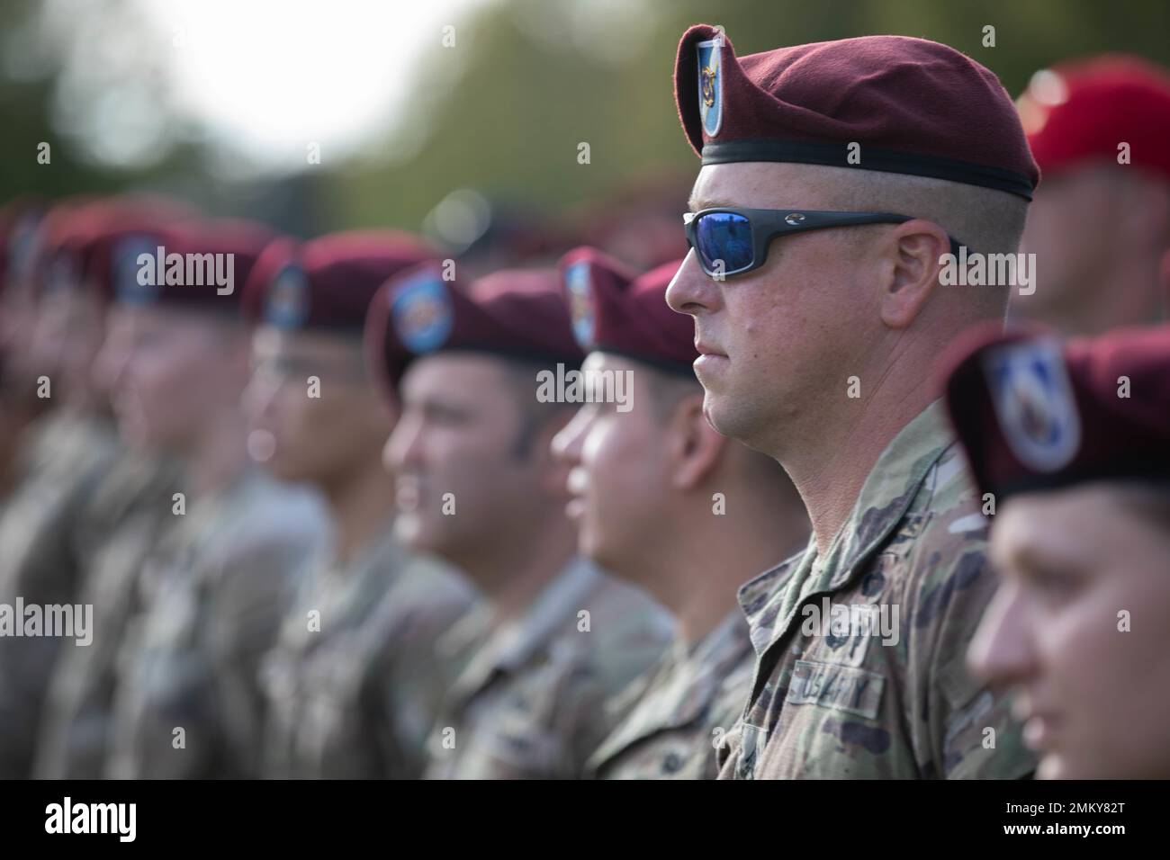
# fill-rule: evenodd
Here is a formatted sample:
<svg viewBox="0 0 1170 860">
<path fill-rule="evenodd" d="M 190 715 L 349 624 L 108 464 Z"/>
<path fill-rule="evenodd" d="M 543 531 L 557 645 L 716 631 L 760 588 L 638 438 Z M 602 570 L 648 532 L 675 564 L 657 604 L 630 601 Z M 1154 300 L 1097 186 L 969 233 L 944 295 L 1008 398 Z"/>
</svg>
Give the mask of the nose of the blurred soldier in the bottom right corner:
<svg viewBox="0 0 1170 860">
<path fill-rule="evenodd" d="M 1032 628 L 1019 589 L 1005 583 L 983 613 L 966 653 L 968 668 L 993 688 L 1028 679 L 1035 668 Z"/>
</svg>

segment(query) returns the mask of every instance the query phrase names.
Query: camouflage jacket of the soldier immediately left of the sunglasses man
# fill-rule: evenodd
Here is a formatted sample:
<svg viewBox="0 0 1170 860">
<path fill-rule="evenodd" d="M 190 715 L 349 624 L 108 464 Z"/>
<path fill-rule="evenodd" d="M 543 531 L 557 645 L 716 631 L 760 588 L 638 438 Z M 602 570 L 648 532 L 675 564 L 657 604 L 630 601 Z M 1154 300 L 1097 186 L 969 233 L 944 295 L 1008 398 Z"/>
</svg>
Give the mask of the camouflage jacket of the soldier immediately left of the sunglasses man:
<svg viewBox="0 0 1170 860">
<path fill-rule="evenodd" d="M 590 757 L 601 779 L 714 779 L 715 747 L 748 697 L 755 652 L 738 608 L 698 642 L 681 639 L 614 702 L 633 710 Z"/>
</svg>

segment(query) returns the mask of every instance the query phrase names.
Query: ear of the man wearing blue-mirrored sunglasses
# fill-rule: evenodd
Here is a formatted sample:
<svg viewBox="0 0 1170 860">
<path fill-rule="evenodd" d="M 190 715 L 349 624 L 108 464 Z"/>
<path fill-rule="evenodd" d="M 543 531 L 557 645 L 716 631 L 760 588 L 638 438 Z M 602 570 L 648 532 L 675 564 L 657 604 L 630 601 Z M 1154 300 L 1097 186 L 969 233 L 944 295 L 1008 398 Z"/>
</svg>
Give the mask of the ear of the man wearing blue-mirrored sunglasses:
<svg viewBox="0 0 1170 860">
<path fill-rule="evenodd" d="M 881 247 L 881 318 L 890 329 L 907 329 L 938 285 L 938 260 L 950 253 L 950 239 L 937 223 L 915 219 L 897 225 Z"/>
</svg>

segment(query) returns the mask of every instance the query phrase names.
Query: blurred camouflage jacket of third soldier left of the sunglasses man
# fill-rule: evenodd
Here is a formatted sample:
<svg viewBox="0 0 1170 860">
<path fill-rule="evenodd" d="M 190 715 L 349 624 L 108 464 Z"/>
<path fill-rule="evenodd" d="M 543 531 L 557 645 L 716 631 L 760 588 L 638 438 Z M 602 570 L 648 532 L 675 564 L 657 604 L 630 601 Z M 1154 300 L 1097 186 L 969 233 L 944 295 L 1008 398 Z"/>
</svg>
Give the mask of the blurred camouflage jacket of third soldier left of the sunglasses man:
<svg viewBox="0 0 1170 860">
<path fill-rule="evenodd" d="M 453 571 L 408 555 L 390 523 L 346 569 L 322 560 L 264 659 L 264 773 L 417 778 L 450 680 L 436 665 L 435 640 L 474 593 Z"/>
</svg>

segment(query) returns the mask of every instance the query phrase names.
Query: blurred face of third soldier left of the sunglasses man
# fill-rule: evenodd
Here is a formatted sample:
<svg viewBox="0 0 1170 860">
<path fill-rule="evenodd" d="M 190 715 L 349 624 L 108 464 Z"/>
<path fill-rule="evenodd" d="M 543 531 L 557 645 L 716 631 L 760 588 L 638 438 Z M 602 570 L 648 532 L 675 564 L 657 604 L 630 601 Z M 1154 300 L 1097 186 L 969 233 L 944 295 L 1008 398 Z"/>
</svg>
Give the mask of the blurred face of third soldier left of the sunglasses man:
<svg viewBox="0 0 1170 860">
<path fill-rule="evenodd" d="M 276 477 L 329 487 L 377 468 L 390 415 L 366 377 L 360 343 L 261 326 L 243 404 L 253 456 Z M 255 439 L 255 436 L 253 436 Z"/>
</svg>

